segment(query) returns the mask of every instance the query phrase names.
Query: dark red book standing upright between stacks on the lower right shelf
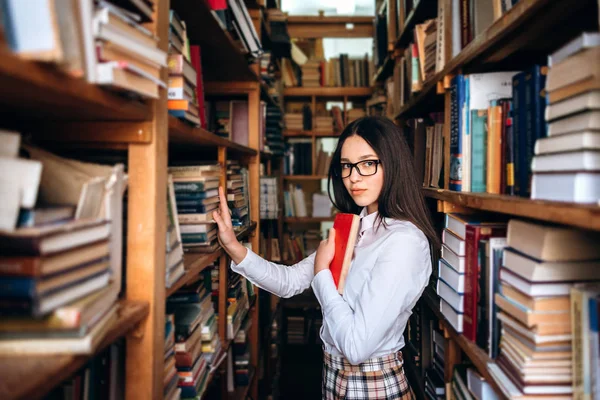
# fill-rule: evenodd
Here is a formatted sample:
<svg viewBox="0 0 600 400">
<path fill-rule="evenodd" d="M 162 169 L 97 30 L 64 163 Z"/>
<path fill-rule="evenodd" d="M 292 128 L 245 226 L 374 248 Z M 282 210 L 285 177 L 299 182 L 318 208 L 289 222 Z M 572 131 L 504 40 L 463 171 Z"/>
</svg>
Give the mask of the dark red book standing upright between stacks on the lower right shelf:
<svg viewBox="0 0 600 400">
<path fill-rule="evenodd" d="M 477 302 L 479 290 L 479 241 L 505 237 L 506 224 L 467 224 L 465 232 L 465 298 L 463 335 L 473 342 L 477 339 Z"/>
</svg>

